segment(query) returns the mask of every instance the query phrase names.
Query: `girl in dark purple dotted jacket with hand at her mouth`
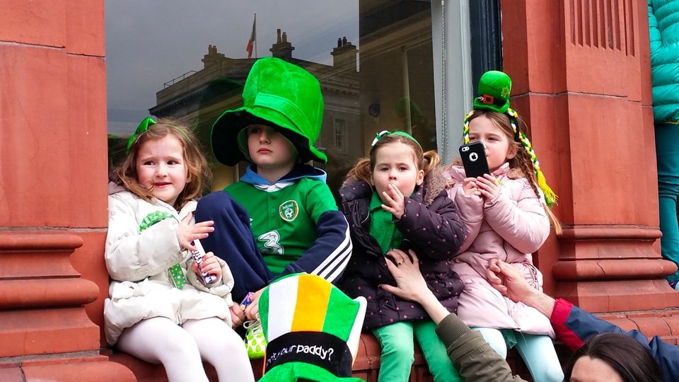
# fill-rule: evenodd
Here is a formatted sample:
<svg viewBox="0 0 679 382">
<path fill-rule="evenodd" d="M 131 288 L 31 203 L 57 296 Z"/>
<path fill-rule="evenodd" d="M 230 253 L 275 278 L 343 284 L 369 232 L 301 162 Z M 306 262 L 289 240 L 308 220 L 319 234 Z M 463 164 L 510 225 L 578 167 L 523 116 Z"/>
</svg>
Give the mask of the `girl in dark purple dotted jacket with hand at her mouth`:
<svg viewBox="0 0 679 382">
<path fill-rule="evenodd" d="M 382 347 L 379 381 L 409 380 L 414 338 L 434 381 L 460 381 L 424 308 L 379 287 L 396 285 L 387 269 L 387 262 L 393 262 L 390 250 L 412 249 L 431 291 L 455 311 L 462 283 L 451 258 L 463 242 L 463 228 L 446 180 L 434 170 L 438 164 L 438 154 L 423 153 L 410 134 L 381 132 L 370 159 L 356 163 L 340 190 L 354 251 L 338 287 L 368 301 L 364 330 L 373 332 Z"/>
</svg>

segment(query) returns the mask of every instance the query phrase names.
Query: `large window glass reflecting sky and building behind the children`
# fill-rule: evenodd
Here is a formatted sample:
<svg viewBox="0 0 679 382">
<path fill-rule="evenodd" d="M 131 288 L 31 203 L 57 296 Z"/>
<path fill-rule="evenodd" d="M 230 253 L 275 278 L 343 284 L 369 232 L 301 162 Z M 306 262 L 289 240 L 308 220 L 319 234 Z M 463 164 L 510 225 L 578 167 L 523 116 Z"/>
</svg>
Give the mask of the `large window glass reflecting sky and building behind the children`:
<svg viewBox="0 0 679 382">
<path fill-rule="evenodd" d="M 273 55 L 321 83 L 315 146 L 328 163 L 313 164 L 336 192 L 381 130 L 411 132 L 436 149 L 431 30 L 429 1 L 107 1 L 108 131 L 120 137 L 112 161 L 143 117 L 171 117 L 197 132 L 213 188 L 230 183 L 235 172 L 211 156 L 211 124 L 240 106 L 255 59 Z"/>
</svg>

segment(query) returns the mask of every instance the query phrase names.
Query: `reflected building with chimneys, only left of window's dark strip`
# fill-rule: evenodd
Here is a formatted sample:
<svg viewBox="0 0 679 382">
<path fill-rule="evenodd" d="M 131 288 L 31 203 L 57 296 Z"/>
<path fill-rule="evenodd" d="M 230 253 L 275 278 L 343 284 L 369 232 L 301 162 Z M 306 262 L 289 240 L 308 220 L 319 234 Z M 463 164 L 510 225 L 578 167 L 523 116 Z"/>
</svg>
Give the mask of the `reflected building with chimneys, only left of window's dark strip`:
<svg viewBox="0 0 679 382">
<path fill-rule="evenodd" d="M 332 183 L 340 182 L 340 178 L 356 158 L 364 154 L 362 144 L 348 142 L 349 137 L 363 137 L 359 115 L 360 83 L 356 70 L 358 50 L 346 37 L 338 39 L 337 47 L 330 53 L 333 65 L 329 66 L 296 59 L 292 57 L 294 49 L 287 41 L 286 33 L 278 30 L 277 42 L 269 51 L 273 57 L 303 67 L 320 81 L 325 110 L 323 129 L 316 146 L 328 156 L 331 166 L 327 169 L 328 178 L 332 178 Z M 165 88 L 156 93 L 156 106 L 149 112 L 156 117 L 193 122 L 199 139 L 208 147 L 210 128 L 216 117 L 224 110 L 242 105 L 240 93 L 255 59 L 225 57 L 217 52 L 217 47 L 210 45 L 202 62 L 202 70 L 187 73 L 166 83 Z M 314 164 L 319 166 L 318 163 Z"/>
</svg>

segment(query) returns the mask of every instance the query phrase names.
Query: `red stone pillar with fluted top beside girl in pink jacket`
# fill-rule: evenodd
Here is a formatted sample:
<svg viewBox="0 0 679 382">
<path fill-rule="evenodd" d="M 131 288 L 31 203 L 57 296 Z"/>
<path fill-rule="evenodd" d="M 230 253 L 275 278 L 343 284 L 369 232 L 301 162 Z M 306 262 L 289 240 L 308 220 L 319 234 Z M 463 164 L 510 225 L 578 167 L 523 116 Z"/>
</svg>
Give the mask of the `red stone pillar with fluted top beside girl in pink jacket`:
<svg viewBox="0 0 679 382">
<path fill-rule="evenodd" d="M 679 293 L 658 255 L 646 0 L 502 0 L 501 11 L 511 102 L 560 197 L 564 233 L 538 253 L 546 291 L 588 311 L 644 311 L 620 315 L 678 335 L 657 312 Z"/>
</svg>

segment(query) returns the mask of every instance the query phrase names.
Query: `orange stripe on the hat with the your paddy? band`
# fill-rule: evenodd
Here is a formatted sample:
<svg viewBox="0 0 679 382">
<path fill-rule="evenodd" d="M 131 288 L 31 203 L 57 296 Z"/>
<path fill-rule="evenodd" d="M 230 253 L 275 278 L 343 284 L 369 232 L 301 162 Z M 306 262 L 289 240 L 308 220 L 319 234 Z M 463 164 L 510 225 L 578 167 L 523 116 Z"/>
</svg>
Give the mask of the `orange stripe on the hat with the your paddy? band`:
<svg viewBox="0 0 679 382">
<path fill-rule="evenodd" d="M 298 278 L 298 294 L 291 332 L 323 332 L 332 284 L 310 274 Z M 315 293 L 304 293 L 315 291 Z"/>
</svg>

